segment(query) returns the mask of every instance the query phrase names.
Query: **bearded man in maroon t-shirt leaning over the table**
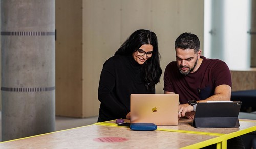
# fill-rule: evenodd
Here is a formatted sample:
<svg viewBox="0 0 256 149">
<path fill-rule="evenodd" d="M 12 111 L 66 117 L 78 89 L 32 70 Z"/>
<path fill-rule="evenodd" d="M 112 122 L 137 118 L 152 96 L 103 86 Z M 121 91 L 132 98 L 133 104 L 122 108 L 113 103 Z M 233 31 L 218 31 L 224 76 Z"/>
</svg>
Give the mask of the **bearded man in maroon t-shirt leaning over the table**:
<svg viewBox="0 0 256 149">
<path fill-rule="evenodd" d="M 175 51 L 176 61 L 165 68 L 164 93 L 179 94 L 179 118 L 193 119 L 197 102 L 230 100 L 232 82 L 228 66 L 221 60 L 202 56 L 195 34 L 181 34 L 175 41 Z M 228 148 L 244 148 L 240 137 L 230 140 Z"/>
</svg>

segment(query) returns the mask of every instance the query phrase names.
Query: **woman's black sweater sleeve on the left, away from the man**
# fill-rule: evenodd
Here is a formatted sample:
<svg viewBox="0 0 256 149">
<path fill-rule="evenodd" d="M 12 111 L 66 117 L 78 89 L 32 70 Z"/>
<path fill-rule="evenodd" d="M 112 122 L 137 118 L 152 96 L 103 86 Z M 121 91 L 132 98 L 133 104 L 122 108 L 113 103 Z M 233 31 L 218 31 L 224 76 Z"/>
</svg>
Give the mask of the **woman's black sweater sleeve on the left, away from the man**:
<svg viewBox="0 0 256 149">
<path fill-rule="evenodd" d="M 104 107 L 102 111 L 104 115 L 125 118 L 129 111 L 122 106 L 120 99 L 116 98 L 114 94 L 115 84 L 115 62 L 112 57 L 103 65 L 99 81 L 98 99 Z"/>
</svg>

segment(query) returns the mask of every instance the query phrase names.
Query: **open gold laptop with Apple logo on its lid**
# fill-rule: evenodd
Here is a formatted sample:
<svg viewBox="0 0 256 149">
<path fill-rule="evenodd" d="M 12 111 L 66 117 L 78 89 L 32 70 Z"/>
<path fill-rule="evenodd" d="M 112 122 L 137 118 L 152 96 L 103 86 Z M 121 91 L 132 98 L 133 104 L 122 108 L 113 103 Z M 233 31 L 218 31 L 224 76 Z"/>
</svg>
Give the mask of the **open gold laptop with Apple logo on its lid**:
<svg viewBox="0 0 256 149">
<path fill-rule="evenodd" d="M 178 94 L 131 94 L 131 123 L 178 125 Z"/>
</svg>

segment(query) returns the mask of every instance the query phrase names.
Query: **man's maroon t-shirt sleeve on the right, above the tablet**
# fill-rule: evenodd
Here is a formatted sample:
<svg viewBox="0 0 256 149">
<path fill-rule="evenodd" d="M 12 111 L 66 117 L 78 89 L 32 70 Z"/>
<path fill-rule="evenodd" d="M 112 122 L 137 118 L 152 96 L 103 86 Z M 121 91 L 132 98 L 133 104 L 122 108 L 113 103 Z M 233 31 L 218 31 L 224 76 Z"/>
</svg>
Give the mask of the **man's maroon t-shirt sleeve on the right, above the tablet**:
<svg viewBox="0 0 256 149">
<path fill-rule="evenodd" d="M 232 87 L 231 72 L 225 62 L 219 61 L 216 63 L 215 67 L 212 69 L 212 73 L 215 87 L 223 84 Z"/>
</svg>

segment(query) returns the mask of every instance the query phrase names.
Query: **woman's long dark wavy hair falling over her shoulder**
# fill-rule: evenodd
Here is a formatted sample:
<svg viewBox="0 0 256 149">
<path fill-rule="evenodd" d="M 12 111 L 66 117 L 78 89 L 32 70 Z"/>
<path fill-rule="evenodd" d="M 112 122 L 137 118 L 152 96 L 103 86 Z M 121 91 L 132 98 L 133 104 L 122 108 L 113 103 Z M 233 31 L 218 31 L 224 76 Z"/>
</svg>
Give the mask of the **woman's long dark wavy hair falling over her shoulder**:
<svg viewBox="0 0 256 149">
<path fill-rule="evenodd" d="M 143 44 L 153 46 L 152 57 L 145 61 L 142 66 L 142 82 L 144 82 L 147 90 L 152 90 L 160 81 L 162 69 L 160 67 L 160 54 L 158 51 L 157 36 L 150 30 L 137 30 L 121 45 L 115 55 L 132 55 Z"/>
</svg>

